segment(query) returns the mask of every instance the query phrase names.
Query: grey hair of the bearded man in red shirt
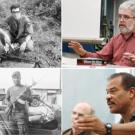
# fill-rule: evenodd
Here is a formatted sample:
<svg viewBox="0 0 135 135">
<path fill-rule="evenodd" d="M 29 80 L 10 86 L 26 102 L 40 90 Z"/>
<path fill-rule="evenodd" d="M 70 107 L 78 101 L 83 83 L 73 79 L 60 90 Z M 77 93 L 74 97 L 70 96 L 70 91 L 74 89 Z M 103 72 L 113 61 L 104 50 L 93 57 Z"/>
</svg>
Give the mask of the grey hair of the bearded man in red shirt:
<svg viewBox="0 0 135 135">
<path fill-rule="evenodd" d="M 135 17 L 135 0 L 126 0 L 120 5 L 119 10 L 121 9 L 130 9 Z"/>
</svg>

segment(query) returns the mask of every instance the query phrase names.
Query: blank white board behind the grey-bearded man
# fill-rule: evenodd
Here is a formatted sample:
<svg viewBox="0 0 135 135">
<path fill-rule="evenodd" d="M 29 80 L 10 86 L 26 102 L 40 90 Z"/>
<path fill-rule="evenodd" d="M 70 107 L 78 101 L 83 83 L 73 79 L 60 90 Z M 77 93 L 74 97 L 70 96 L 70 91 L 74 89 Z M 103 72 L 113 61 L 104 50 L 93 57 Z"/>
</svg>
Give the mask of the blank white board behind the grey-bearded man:
<svg viewBox="0 0 135 135">
<path fill-rule="evenodd" d="M 62 0 L 62 37 L 99 38 L 101 0 Z"/>
</svg>

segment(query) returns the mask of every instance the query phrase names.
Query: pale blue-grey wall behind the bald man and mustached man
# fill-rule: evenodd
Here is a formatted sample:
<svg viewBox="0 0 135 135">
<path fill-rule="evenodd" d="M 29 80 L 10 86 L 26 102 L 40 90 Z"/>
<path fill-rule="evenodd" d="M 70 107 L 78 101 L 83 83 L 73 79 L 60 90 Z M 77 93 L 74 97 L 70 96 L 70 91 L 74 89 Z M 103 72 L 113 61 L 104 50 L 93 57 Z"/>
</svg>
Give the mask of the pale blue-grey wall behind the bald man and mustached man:
<svg viewBox="0 0 135 135">
<path fill-rule="evenodd" d="M 63 107 L 62 129 L 71 125 L 73 106 L 80 101 L 87 101 L 96 111 L 96 115 L 104 122 L 114 122 L 106 104 L 107 78 L 115 69 L 63 69 Z"/>
</svg>

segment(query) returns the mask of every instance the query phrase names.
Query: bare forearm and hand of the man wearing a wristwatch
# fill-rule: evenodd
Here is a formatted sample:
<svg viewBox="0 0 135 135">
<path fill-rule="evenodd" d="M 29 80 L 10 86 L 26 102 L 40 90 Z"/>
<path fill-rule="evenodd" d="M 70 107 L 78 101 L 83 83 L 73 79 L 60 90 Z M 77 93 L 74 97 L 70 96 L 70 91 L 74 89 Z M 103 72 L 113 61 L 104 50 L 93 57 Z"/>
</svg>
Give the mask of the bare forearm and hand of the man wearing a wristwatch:
<svg viewBox="0 0 135 135">
<path fill-rule="evenodd" d="M 105 124 L 96 116 L 89 116 L 83 120 L 74 122 L 74 128 L 83 131 L 93 131 L 99 135 L 105 135 Z M 134 135 L 135 134 L 135 122 L 129 122 L 125 124 L 112 124 L 112 135 Z"/>
</svg>

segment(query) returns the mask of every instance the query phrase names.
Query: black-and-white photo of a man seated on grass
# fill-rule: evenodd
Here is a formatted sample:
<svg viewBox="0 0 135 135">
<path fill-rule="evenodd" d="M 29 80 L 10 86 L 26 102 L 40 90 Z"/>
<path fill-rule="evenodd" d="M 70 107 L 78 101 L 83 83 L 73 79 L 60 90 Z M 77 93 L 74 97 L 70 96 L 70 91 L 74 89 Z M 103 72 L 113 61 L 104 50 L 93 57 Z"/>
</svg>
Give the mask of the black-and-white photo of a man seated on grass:
<svg viewBox="0 0 135 135">
<path fill-rule="evenodd" d="M 0 67 L 61 64 L 61 1 L 0 0 Z"/>
</svg>

